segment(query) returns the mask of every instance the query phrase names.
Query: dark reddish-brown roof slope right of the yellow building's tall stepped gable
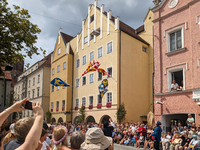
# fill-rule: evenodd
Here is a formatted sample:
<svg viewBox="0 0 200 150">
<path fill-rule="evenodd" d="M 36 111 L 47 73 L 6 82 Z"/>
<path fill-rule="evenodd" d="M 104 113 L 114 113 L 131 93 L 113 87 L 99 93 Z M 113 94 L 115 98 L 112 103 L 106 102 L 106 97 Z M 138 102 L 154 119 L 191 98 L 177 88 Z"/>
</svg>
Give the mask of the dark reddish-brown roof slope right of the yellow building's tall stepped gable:
<svg viewBox="0 0 200 150">
<path fill-rule="evenodd" d="M 130 36 L 136 38 L 137 40 L 149 45 L 149 43 L 147 43 L 145 40 L 143 40 L 139 35 L 137 35 L 135 32 L 135 30 L 133 28 L 131 28 L 130 26 L 128 26 L 127 24 L 123 23 L 122 21 L 120 21 L 120 29 L 129 34 Z"/>
</svg>

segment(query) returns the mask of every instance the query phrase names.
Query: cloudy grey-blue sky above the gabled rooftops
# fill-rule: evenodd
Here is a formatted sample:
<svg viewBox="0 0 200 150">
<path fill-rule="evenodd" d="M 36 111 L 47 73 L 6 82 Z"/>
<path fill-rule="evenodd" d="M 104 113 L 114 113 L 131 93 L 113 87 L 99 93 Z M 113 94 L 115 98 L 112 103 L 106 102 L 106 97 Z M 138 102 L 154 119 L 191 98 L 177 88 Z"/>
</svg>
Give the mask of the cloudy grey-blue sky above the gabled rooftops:
<svg viewBox="0 0 200 150">
<path fill-rule="evenodd" d="M 71 36 L 81 31 L 81 22 L 87 16 L 89 4 L 94 0 L 7 0 L 9 6 L 18 5 L 29 10 L 31 22 L 37 24 L 42 32 L 38 35 L 36 46 L 47 50 L 47 54 L 54 50 L 59 28 Z M 154 6 L 152 0 L 98 0 L 98 6 L 105 5 L 105 11 L 112 10 L 114 17 L 133 28 L 143 24 L 149 8 Z M 26 58 L 25 63 L 34 64 L 42 59 L 34 55 L 33 59 Z"/>
</svg>

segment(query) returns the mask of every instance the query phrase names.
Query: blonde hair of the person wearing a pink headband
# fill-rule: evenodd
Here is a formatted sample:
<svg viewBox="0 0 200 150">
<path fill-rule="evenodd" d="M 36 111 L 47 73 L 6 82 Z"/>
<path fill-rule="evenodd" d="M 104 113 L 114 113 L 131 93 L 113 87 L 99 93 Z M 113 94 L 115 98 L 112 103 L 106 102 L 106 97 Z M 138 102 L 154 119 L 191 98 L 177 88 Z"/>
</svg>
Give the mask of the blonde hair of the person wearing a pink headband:
<svg viewBox="0 0 200 150">
<path fill-rule="evenodd" d="M 54 139 L 56 141 L 58 141 L 65 135 L 65 129 L 62 127 L 55 127 L 53 134 L 54 134 Z M 61 150 L 62 146 L 68 146 L 67 136 L 65 137 L 65 139 L 62 142 L 60 142 L 58 145 L 56 145 L 56 150 Z"/>
</svg>

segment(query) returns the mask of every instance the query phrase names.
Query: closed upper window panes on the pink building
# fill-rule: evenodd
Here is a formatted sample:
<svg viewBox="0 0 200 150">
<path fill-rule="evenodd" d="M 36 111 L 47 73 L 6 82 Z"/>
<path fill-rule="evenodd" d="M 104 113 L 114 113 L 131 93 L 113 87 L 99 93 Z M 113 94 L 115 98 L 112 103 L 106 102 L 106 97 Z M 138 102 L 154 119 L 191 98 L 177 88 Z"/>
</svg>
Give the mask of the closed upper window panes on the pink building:
<svg viewBox="0 0 200 150">
<path fill-rule="evenodd" d="M 169 33 L 170 51 L 183 48 L 182 29 Z"/>
</svg>

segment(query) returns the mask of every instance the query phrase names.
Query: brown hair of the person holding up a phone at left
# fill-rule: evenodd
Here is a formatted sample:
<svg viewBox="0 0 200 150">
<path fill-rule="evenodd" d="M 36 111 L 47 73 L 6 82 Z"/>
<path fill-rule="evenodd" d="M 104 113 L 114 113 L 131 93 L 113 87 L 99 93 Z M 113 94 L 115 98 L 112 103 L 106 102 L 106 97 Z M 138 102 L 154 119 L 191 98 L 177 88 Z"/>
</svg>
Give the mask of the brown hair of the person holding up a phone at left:
<svg viewBox="0 0 200 150">
<path fill-rule="evenodd" d="M 20 119 L 16 122 L 14 126 L 14 135 L 16 136 L 18 141 L 25 141 L 25 138 L 33 126 L 34 119 L 31 117 Z"/>
</svg>

